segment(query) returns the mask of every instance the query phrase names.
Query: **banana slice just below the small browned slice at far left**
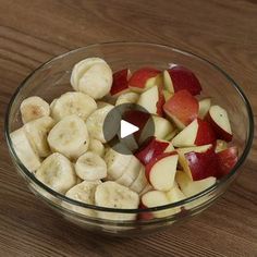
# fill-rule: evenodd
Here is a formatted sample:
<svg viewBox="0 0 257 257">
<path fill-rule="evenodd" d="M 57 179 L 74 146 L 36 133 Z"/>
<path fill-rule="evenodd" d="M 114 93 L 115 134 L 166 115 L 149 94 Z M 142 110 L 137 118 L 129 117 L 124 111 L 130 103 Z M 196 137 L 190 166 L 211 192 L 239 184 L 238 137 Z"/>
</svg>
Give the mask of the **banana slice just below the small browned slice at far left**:
<svg viewBox="0 0 257 257">
<path fill-rule="evenodd" d="M 47 157 L 51 154 L 47 136 L 53 125 L 54 122 L 50 117 L 41 117 L 27 122 L 23 126 L 27 138 L 39 157 Z"/>
</svg>

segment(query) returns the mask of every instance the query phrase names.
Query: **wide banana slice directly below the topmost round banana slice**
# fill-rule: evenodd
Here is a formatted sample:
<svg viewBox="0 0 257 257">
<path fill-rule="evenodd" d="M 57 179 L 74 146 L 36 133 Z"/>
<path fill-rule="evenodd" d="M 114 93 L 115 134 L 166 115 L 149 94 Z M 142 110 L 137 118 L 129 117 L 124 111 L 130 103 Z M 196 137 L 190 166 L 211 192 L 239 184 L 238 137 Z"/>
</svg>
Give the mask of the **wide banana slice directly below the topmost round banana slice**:
<svg viewBox="0 0 257 257">
<path fill-rule="evenodd" d="M 71 114 L 77 114 L 86 121 L 87 117 L 97 109 L 97 103 L 91 97 L 83 93 L 68 91 L 61 95 L 60 98 L 54 99 L 50 105 L 50 109 L 51 117 L 57 121 Z"/>
</svg>

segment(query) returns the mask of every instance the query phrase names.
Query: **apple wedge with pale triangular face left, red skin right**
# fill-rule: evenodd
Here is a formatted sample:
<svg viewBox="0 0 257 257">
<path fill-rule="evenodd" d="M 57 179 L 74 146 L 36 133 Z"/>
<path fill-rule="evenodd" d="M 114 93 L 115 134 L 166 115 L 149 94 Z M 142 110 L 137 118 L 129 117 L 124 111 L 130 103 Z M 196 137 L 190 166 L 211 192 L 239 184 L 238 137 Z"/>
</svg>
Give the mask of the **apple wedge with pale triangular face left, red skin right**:
<svg viewBox="0 0 257 257">
<path fill-rule="evenodd" d="M 215 140 L 216 134 L 211 125 L 198 118 L 181 131 L 172 139 L 172 144 L 175 147 L 201 146 L 212 144 Z"/>
</svg>

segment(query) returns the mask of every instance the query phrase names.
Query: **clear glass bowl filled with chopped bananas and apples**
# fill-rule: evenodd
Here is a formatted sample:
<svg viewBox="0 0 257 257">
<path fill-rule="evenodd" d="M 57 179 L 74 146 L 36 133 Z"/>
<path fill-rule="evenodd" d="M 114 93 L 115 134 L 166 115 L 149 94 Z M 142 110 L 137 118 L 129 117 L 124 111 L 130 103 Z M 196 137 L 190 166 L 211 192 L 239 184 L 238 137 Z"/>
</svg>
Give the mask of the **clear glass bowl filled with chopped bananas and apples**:
<svg viewBox="0 0 257 257">
<path fill-rule="evenodd" d="M 199 57 L 102 44 L 32 73 L 9 105 L 5 136 L 29 188 L 65 219 L 131 235 L 222 195 L 250 148 L 253 114 L 232 78 Z"/>
</svg>

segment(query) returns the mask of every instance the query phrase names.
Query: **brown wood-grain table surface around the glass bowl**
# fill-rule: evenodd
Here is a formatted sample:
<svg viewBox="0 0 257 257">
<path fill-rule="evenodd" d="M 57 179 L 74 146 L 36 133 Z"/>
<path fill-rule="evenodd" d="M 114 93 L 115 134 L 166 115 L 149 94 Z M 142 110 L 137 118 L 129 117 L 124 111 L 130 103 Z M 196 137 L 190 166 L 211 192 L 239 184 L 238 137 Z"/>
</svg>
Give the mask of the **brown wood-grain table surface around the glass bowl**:
<svg viewBox="0 0 257 257">
<path fill-rule="evenodd" d="M 257 110 L 257 1 L 0 0 L 0 256 L 257 256 L 257 144 L 240 178 L 192 221 L 143 238 L 91 235 L 37 201 L 11 163 L 7 105 L 40 63 L 99 41 L 151 41 L 212 60 Z"/>
</svg>

